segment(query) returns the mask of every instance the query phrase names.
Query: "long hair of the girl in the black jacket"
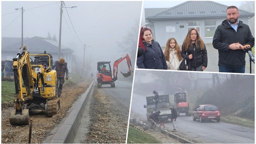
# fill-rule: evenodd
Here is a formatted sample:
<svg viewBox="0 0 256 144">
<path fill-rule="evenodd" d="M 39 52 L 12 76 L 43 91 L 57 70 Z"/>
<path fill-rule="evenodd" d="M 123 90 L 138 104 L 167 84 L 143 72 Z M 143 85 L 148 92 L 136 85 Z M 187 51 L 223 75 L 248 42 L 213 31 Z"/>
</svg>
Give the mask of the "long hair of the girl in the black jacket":
<svg viewBox="0 0 256 144">
<path fill-rule="evenodd" d="M 196 32 L 195 45 L 197 47 L 200 47 L 200 49 L 202 50 L 204 48 L 204 42 L 203 42 L 202 38 L 200 37 L 198 31 L 195 28 L 190 28 L 187 31 L 186 37 L 185 37 L 182 45 L 184 46 L 185 51 L 187 50 L 188 46 L 192 46 L 192 40 L 190 37 L 192 30 L 195 30 L 195 32 Z"/>
</svg>

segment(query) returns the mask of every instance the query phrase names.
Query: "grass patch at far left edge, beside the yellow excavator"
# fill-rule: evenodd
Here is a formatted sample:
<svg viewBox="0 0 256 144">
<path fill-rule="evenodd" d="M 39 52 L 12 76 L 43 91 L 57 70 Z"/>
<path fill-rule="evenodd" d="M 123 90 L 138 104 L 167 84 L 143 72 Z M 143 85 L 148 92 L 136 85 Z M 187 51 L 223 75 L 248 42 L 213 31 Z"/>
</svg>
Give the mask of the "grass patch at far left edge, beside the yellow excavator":
<svg viewBox="0 0 256 144">
<path fill-rule="evenodd" d="M 1 81 L 1 104 L 12 102 L 15 97 L 13 81 Z"/>
</svg>

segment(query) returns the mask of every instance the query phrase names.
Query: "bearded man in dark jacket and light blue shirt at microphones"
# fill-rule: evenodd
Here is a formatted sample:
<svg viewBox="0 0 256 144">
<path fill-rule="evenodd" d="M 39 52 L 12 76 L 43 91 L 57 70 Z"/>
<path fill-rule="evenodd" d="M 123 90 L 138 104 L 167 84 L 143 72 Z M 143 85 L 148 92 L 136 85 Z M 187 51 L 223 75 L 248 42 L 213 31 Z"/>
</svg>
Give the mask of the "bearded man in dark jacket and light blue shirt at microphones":
<svg viewBox="0 0 256 144">
<path fill-rule="evenodd" d="M 236 6 L 228 6 L 227 19 L 217 26 L 212 45 L 218 49 L 219 72 L 245 72 L 245 51 L 253 47 L 254 37 L 249 26 L 238 20 Z"/>
</svg>

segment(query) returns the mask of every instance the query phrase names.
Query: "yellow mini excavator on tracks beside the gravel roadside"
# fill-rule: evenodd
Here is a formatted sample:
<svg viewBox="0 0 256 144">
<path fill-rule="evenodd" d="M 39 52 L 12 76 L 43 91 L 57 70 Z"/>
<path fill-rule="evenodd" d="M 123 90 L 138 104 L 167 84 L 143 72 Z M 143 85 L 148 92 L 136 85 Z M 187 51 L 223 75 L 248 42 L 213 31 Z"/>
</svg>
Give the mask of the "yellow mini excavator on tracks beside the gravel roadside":
<svg viewBox="0 0 256 144">
<path fill-rule="evenodd" d="M 44 110 L 49 117 L 56 114 L 60 102 L 55 96 L 57 76 L 56 71 L 51 69 L 51 54 L 45 51 L 29 54 L 24 45 L 12 60 L 16 97 L 15 108 L 9 117 L 10 124 L 28 124 L 30 110 Z"/>
</svg>

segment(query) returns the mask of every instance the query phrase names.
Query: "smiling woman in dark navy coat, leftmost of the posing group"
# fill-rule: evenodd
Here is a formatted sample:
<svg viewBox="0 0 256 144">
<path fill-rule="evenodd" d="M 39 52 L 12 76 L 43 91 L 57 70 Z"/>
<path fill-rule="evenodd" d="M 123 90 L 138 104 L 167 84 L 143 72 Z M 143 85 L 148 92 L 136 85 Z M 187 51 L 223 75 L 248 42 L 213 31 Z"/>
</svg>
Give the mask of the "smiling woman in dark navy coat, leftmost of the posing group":
<svg viewBox="0 0 256 144">
<path fill-rule="evenodd" d="M 141 27 L 138 47 L 144 50 L 144 54 L 137 57 L 138 68 L 167 69 L 165 56 L 160 44 L 152 39 L 151 29 Z"/>
</svg>

